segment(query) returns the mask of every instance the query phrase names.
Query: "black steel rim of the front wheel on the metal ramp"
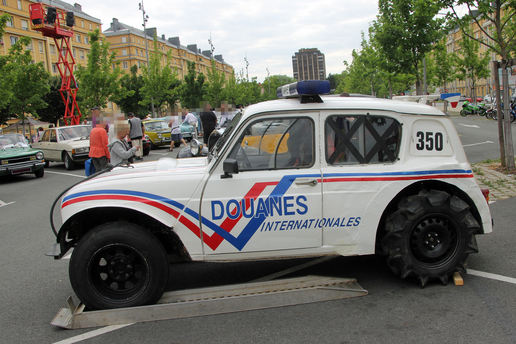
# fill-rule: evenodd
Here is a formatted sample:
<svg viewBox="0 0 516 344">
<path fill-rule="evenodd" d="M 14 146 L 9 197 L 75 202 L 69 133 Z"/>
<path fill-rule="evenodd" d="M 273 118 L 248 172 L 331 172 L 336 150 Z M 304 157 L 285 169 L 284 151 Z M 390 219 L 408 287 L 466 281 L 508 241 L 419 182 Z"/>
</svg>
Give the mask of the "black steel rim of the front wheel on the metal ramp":
<svg viewBox="0 0 516 344">
<path fill-rule="evenodd" d="M 123 244 L 107 245 L 90 259 L 88 282 L 103 300 L 128 302 L 147 287 L 149 266 L 135 248 Z"/>
</svg>

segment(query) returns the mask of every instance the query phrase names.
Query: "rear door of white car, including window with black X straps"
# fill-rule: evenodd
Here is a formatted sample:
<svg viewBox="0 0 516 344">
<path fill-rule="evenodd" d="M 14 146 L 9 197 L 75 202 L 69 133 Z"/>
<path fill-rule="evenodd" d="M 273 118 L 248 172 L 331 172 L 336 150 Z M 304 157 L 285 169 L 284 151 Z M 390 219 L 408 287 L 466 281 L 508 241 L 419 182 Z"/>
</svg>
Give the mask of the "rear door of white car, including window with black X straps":
<svg viewBox="0 0 516 344">
<path fill-rule="evenodd" d="M 374 111 L 334 111 L 324 117 L 323 244 L 340 246 L 337 252 L 346 254 L 374 253 L 384 210 L 375 197 L 392 180 L 406 178 L 395 164 L 401 124 L 394 115 Z M 392 195 L 385 196 L 382 200 Z"/>
</svg>

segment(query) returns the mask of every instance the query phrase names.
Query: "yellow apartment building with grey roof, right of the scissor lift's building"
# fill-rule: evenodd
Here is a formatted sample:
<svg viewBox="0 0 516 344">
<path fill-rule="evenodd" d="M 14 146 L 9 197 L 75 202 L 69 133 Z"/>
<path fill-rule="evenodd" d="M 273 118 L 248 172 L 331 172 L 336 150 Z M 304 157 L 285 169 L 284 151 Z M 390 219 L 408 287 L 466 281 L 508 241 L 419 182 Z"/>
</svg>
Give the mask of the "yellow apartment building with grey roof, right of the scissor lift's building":
<svg viewBox="0 0 516 344">
<path fill-rule="evenodd" d="M 104 30 L 104 35 L 110 43 L 111 51 L 117 51 L 117 60 L 120 61 L 120 67 L 128 72 L 131 66 L 137 65 L 138 68 L 147 64 L 145 38 L 149 45 L 149 53 L 152 51 L 154 37 L 157 36 L 155 27 L 147 28 L 147 32 L 137 29 L 133 26 L 123 24 L 118 19 L 113 18 L 109 28 Z M 147 34 L 147 35 L 146 35 Z M 206 39 L 207 40 L 207 39 Z M 210 50 L 201 51 L 197 48 L 197 44 L 181 45 L 179 37 L 165 38 L 165 35 L 157 36 L 158 49 L 162 51 L 162 65 L 167 62 L 167 53 L 172 51 L 170 67 L 176 70 L 179 79 L 184 79 L 187 73 L 186 61 L 196 62 L 197 73 L 206 74 L 206 68 L 211 68 Z M 233 66 L 224 61 L 222 55 L 214 56 L 216 69 L 222 72 L 226 79 L 229 80 L 233 74 Z M 141 69 L 140 69 L 141 72 Z"/>
</svg>

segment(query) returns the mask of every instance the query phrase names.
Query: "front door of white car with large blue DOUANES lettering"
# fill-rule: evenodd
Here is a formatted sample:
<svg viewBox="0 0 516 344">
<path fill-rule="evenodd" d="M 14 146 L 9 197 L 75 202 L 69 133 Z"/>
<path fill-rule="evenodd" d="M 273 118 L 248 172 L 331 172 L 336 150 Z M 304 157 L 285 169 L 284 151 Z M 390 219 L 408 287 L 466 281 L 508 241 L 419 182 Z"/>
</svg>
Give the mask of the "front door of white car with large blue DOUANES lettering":
<svg viewBox="0 0 516 344">
<path fill-rule="evenodd" d="M 205 255 L 321 245 L 318 116 L 264 115 L 240 127 L 205 184 Z M 224 159 L 237 161 L 232 178 Z"/>
</svg>

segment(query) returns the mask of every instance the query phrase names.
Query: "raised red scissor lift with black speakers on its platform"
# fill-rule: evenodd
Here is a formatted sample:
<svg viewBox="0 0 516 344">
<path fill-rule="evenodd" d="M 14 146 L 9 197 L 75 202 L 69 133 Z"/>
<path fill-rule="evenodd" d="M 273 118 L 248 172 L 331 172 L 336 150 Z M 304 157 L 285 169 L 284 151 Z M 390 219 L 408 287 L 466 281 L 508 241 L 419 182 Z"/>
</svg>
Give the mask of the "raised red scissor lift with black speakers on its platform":
<svg viewBox="0 0 516 344">
<path fill-rule="evenodd" d="M 73 12 L 66 12 L 56 7 L 44 8 L 44 4 L 36 3 L 29 5 L 29 13 L 30 28 L 41 32 L 45 37 L 53 38 L 59 50 L 56 66 L 62 80 L 59 91 L 66 105 L 65 116 L 63 116 L 65 125 L 79 124 L 80 110 L 76 101 L 77 83 L 73 76 L 75 59 L 70 43 L 70 38 L 73 37 Z M 78 115 L 75 115 L 75 110 Z"/>
</svg>

